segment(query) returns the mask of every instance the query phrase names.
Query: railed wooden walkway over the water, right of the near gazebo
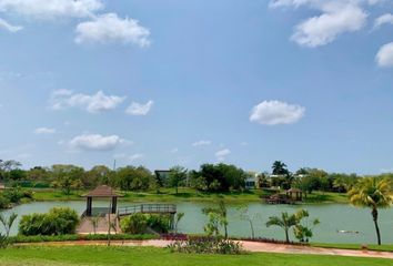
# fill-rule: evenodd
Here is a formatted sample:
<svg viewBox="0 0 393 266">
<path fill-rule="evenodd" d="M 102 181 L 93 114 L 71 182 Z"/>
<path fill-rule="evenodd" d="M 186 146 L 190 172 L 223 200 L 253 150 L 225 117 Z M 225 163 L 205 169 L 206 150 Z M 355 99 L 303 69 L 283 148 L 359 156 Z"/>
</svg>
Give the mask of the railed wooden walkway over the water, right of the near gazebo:
<svg viewBox="0 0 393 266">
<path fill-rule="evenodd" d="M 118 208 L 118 216 L 125 216 L 134 213 L 143 214 L 170 214 L 173 216 L 177 213 L 174 204 L 139 204 Z"/>
</svg>

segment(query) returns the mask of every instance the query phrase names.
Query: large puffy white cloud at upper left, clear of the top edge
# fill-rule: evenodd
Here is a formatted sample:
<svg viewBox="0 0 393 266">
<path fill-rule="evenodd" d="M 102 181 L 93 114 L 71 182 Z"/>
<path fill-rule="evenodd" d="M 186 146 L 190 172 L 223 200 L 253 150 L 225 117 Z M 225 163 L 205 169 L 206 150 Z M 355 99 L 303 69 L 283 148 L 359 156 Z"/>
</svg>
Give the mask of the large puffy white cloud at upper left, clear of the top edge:
<svg viewBox="0 0 393 266">
<path fill-rule="evenodd" d="M 138 20 L 121 19 L 115 13 L 105 13 L 77 25 L 77 43 L 122 42 L 148 47 L 150 31 Z"/>
</svg>

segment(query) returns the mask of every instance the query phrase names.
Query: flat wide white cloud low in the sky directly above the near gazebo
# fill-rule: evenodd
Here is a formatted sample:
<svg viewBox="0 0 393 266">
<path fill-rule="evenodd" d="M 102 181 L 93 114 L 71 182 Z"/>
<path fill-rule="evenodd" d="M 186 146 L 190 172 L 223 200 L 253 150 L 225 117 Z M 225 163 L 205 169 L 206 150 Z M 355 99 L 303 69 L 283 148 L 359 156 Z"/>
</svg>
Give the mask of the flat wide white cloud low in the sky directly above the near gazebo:
<svg viewBox="0 0 393 266">
<path fill-rule="evenodd" d="M 103 136 L 100 134 L 82 134 L 69 141 L 72 149 L 82 151 L 112 151 L 123 143 L 129 141 L 121 139 L 118 135 Z"/>
</svg>

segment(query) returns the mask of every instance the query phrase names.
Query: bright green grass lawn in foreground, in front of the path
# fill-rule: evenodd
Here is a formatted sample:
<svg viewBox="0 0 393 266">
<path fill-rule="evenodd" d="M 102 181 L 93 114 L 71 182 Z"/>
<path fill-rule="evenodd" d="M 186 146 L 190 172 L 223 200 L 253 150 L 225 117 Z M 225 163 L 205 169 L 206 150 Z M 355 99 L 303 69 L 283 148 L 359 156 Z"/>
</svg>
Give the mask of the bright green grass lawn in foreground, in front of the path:
<svg viewBox="0 0 393 266">
<path fill-rule="evenodd" d="M 392 265 L 391 259 L 359 258 L 319 255 L 288 255 L 254 253 L 248 255 L 195 255 L 172 254 L 168 249 L 153 247 L 10 247 L 0 250 L 2 266 L 69 266 L 69 265 L 138 265 L 138 266 L 328 266 L 328 265 Z"/>
</svg>

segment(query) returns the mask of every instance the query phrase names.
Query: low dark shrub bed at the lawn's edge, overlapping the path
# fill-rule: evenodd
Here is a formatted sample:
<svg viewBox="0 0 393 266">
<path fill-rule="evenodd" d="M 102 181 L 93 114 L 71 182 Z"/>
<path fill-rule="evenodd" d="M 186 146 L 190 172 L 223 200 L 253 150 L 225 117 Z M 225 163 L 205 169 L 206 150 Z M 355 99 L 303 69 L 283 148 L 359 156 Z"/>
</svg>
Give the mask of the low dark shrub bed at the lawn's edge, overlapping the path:
<svg viewBox="0 0 393 266">
<path fill-rule="evenodd" d="M 189 237 L 187 241 L 175 241 L 168 246 L 171 252 L 198 254 L 244 254 L 239 242 L 216 237 Z"/>
</svg>

